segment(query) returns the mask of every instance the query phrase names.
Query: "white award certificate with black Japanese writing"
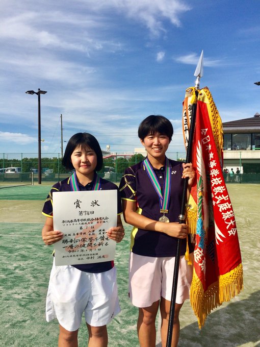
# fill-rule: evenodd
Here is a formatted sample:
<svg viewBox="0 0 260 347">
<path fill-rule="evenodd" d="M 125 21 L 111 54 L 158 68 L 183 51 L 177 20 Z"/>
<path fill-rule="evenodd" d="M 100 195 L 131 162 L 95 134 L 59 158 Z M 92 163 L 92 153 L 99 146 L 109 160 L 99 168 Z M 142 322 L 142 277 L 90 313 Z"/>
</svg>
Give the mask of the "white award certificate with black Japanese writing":
<svg viewBox="0 0 260 347">
<path fill-rule="evenodd" d="M 54 244 L 56 265 L 114 260 L 116 241 L 107 230 L 117 226 L 117 191 L 53 193 L 54 230 L 64 234 Z"/>
</svg>

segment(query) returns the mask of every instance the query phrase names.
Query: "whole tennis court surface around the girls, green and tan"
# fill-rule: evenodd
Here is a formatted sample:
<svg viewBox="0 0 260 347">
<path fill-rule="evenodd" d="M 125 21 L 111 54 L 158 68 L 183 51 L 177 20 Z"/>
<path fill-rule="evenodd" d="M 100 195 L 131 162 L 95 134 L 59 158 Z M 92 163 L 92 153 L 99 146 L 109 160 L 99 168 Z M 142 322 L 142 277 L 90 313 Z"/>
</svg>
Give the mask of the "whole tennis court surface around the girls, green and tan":
<svg viewBox="0 0 260 347">
<path fill-rule="evenodd" d="M 58 323 L 45 321 L 45 296 L 52 262 L 52 247 L 41 240 L 44 217 L 41 208 L 50 185 L 0 189 L 0 345 L 19 347 L 57 346 Z M 186 302 L 180 314 L 179 346 L 260 346 L 260 289 L 258 211 L 260 185 L 228 185 L 239 230 L 244 267 L 244 290 L 214 310 L 202 330 Z M 137 309 L 128 301 L 128 248 L 131 227 L 117 245 L 121 313 L 108 326 L 109 346 L 138 346 Z M 87 345 L 84 324 L 79 347 Z M 160 339 L 158 339 L 160 341 Z M 160 346 L 160 342 L 158 342 Z"/>
</svg>

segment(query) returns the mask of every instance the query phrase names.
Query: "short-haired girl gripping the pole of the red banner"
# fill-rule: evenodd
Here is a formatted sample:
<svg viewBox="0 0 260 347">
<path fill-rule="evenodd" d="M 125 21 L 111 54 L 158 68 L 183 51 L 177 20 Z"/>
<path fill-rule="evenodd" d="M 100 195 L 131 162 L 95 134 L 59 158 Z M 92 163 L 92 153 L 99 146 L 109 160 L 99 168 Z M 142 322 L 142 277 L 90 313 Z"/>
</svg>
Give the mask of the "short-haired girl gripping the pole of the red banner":
<svg viewBox="0 0 260 347">
<path fill-rule="evenodd" d="M 139 308 L 137 323 L 141 347 L 155 346 L 155 318 L 160 308 L 162 346 L 166 345 L 172 278 L 177 238 L 181 242 L 173 339 L 179 335 L 178 314 L 189 298 L 193 267 L 185 259 L 187 225 L 178 223 L 184 179 L 191 188 L 195 171 L 192 164 L 170 160 L 165 153 L 173 135 L 171 122 L 163 116 L 145 118 L 138 136 L 147 157 L 128 167 L 120 182 L 124 219 L 134 226 L 129 262 L 129 295 Z M 187 242 L 186 242 L 187 240 Z M 190 255 L 191 257 L 192 255 Z"/>
</svg>

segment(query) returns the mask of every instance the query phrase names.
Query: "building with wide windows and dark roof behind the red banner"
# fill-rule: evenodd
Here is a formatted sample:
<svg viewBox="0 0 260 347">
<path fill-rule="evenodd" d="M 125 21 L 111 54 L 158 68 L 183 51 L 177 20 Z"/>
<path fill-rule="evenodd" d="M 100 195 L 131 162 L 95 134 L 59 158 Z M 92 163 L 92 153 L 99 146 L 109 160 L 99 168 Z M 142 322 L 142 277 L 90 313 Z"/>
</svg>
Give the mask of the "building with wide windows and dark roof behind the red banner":
<svg viewBox="0 0 260 347">
<path fill-rule="evenodd" d="M 224 168 L 260 178 L 260 114 L 223 123 Z M 246 175 L 244 176 L 246 179 Z M 250 182 L 249 180 L 249 182 Z"/>
</svg>

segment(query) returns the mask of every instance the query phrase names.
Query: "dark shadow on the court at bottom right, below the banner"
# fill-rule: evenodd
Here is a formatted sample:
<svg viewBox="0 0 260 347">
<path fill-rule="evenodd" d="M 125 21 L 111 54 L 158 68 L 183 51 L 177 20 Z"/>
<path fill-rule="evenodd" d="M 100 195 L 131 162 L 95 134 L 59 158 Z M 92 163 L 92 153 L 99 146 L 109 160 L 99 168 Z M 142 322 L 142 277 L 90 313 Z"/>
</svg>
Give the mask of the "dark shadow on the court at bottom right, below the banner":
<svg viewBox="0 0 260 347">
<path fill-rule="evenodd" d="M 180 330 L 178 346 L 236 347 L 244 343 L 257 343 L 260 339 L 260 290 L 248 299 L 233 299 L 226 307 L 213 311 L 199 330 L 193 323 Z M 255 346 L 260 346 L 257 343 Z"/>
</svg>

